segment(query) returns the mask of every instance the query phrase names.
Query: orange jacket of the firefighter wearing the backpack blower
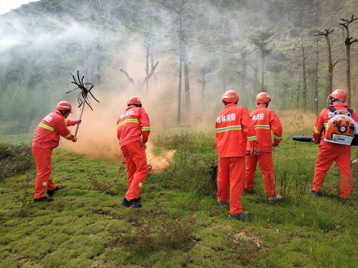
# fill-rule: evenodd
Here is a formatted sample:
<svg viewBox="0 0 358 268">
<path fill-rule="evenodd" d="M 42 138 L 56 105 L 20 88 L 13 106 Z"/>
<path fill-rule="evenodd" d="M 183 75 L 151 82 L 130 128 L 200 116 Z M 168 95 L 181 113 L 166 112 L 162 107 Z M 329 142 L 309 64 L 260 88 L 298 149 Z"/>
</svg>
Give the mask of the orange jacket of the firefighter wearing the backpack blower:
<svg viewBox="0 0 358 268">
<path fill-rule="evenodd" d="M 345 103 L 335 103 L 331 107 L 336 108 L 336 111 L 337 110 L 345 110 L 345 111 L 347 111 L 347 109 L 348 109 L 348 105 L 345 104 Z M 319 114 L 319 116 L 318 116 L 318 118 L 316 120 L 316 123 L 313 126 L 313 132 L 312 132 L 313 138 L 315 140 L 319 139 L 319 134 L 320 134 L 320 132 L 321 132 L 323 127 L 326 128 L 328 120 L 331 118 L 331 115 L 332 115 L 332 112 L 328 108 L 323 109 L 321 111 L 321 113 Z M 352 113 L 352 119 L 354 121 L 358 122 L 358 116 L 355 113 L 355 111 L 353 111 L 353 113 Z M 324 131 L 322 131 L 320 144 L 326 144 L 326 143 L 329 143 L 329 142 L 324 141 Z M 342 144 L 341 146 L 347 147 L 347 146 L 350 146 L 350 145 L 343 145 Z"/>
</svg>

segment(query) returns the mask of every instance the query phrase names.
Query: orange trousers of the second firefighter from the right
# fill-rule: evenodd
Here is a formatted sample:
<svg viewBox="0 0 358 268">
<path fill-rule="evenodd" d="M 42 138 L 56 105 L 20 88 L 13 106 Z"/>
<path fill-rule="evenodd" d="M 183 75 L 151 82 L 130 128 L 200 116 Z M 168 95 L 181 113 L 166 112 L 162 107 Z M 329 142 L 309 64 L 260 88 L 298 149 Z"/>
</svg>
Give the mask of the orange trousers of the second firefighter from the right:
<svg viewBox="0 0 358 268">
<path fill-rule="evenodd" d="M 275 192 L 274 161 L 272 160 L 272 153 L 260 152 L 258 155 L 248 155 L 246 157 L 245 188 L 248 191 L 253 190 L 257 162 L 260 165 L 267 197 L 275 197 L 277 193 Z"/>
</svg>

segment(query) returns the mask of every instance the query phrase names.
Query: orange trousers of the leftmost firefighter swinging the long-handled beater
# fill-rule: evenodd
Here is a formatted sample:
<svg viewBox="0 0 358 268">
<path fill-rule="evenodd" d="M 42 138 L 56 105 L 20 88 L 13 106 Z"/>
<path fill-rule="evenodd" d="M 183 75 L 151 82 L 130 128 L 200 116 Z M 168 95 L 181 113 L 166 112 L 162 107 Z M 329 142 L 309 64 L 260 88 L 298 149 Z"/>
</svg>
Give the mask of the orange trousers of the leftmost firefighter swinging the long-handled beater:
<svg viewBox="0 0 358 268">
<path fill-rule="evenodd" d="M 31 150 L 37 167 L 34 198 L 42 198 L 45 196 L 46 188 L 49 190 L 56 188 L 56 184 L 52 181 L 52 149 L 43 149 L 33 146 Z"/>
</svg>

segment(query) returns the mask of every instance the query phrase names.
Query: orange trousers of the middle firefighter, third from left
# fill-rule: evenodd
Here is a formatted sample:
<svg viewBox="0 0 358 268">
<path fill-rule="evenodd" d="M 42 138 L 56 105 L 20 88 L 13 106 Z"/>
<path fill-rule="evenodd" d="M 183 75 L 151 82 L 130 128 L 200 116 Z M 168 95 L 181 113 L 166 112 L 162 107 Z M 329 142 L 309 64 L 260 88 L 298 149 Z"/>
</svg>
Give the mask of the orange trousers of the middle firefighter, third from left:
<svg viewBox="0 0 358 268">
<path fill-rule="evenodd" d="M 241 195 L 245 183 L 245 157 L 219 157 L 217 183 L 220 202 L 227 202 L 230 184 L 230 214 L 240 214 Z"/>
</svg>

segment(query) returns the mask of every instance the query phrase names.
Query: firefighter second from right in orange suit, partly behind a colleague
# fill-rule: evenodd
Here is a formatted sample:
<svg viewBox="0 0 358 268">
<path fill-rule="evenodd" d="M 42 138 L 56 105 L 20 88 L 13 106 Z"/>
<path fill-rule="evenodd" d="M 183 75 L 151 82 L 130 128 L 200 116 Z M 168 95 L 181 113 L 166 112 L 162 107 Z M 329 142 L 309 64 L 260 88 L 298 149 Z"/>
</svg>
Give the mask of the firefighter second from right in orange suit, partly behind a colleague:
<svg viewBox="0 0 358 268">
<path fill-rule="evenodd" d="M 267 109 L 271 98 L 266 92 L 261 92 L 256 97 L 257 107 L 250 114 L 257 134 L 257 140 L 261 150 L 258 155 L 249 155 L 246 158 L 246 184 L 244 190 L 252 192 L 254 175 L 257 162 L 260 165 L 267 197 L 270 200 L 281 199 L 275 191 L 274 162 L 272 160 L 272 147 L 277 147 L 282 140 L 282 124 L 276 113 Z M 274 142 L 271 140 L 271 130 L 274 131 Z M 252 150 L 252 145 L 247 143 L 247 151 Z"/>
</svg>

